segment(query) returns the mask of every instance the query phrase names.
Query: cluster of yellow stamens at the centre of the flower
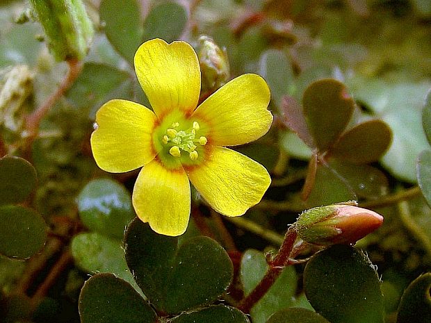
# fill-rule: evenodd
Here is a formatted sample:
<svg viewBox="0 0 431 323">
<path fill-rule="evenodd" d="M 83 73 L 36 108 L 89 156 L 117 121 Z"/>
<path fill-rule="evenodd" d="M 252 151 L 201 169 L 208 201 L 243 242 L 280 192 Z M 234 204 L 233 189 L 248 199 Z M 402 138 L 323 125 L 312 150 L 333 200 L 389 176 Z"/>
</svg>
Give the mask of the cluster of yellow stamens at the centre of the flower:
<svg viewBox="0 0 431 323">
<path fill-rule="evenodd" d="M 181 151 L 186 151 L 191 160 L 197 160 L 197 145 L 204 146 L 208 141 L 206 137 L 197 135 L 199 129 L 200 125 L 196 121 L 187 130 L 179 130 L 179 122 L 174 122 L 172 128 L 166 129 L 162 142 L 169 147 L 172 156 L 181 157 Z"/>
</svg>

